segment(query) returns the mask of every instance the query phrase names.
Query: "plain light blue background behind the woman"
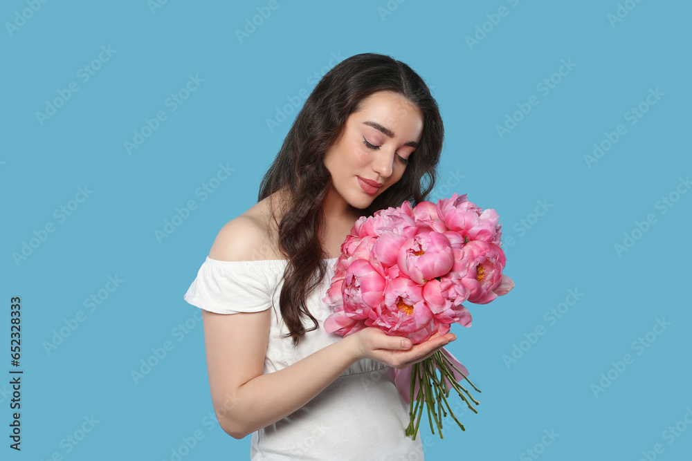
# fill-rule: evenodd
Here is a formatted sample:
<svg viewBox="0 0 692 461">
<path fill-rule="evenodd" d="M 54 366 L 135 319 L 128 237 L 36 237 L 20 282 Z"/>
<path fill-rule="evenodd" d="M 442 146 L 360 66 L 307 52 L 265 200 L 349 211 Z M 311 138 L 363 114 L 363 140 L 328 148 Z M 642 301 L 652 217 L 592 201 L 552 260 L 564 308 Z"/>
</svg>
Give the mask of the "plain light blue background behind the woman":
<svg viewBox="0 0 692 461">
<path fill-rule="evenodd" d="M 610 21 L 624 3 L 633 9 Z M 241 43 L 235 30 L 267 4 L 49 1 L 22 23 L 16 14 L 28 3 L 3 2 L 2 368 L 10 368 L 9 300 L 20 296 L 24 375 L 21 453 L 8 448 L 9 386 L 0 385 L 0 457 L 170 460 L 201 430 L 183 460 L 248 458 L 249 437 L 233 440 L 208 419 L 203 330 L 183 294 L 221 226 L 255 203 L 295 111 L 273 130 L 266 119 L 309 93 L 309 77 L 333 56 L 375 52 L 433 88 L 446 141 L 432 198 L 456 191 L 495 208 L 516 282 L 507 297 L 468 305 L 473 327 L 454 326 L 449 349 L 482 390 L 480 413 L 462 415 L 465 432 L 447 422 L 444 441 L 428 439 L 426 459 L 534 459 L 526 450 L 535 449 L 541 460 L 639 460 L 656 444 L 657 459 L 689 459 L 692 428 L 664 431 L 692 408 L 692 194 L 675 196 L 692 173 L 691 4 L 279 0 Z M 507 15 L 493 16 L 503 6 Z M 486 15 L 500 22 L 484 25 Z M 476 26 L 489 32 L 469 46 Z M 83 82 L 78 70 L 102 46 L 116 53 Z M 576 66 L 540 91 L 563 59 Z M 203 82 L 171 111 L 165 101 L 188 75 Z M 71 82 L 79 90 L 41 124 L 37 111 Z M 626 113 L 656 88 L 662 97 L 630 125 Z M 531 95 L 538 105 L 500 138 L 496 126 Z M 166 120 L 129 154 L 125 140 L 157 111 Z M 585 154 L 618 124 L 626 134 L 588 165 Z M 196 191 L 219 164 L 235 170 L 203 200 Z M 84 185 L 93 193 L 60 222 L 54 210 Z M 659 200 L 670 194 L 679 200 L 664 213 Z M 189 200 L 197 209 L 160 243 L 156 229 Z M 538 201 L 543 216 L 534 215 Z M 614 245 L 649 214 L 655 223 L 618 253 Z M 12 254 L 49 222 L 55 232 L 15 263 Z M 89 312 L 84 299 L 116 275 L 123 282 Z M 568 290 L 583 296 L 551 321 L 546 312 Z M 53 330 L 80 311 L 86 319 L 46 352 Z M 649 343 L 657 319 L 670 325 Z M 522 343 L 537 327 L 545 334 Z M 131 370 L 165 341 L 174 348 L 135 383 Z M 503 359 L 515 345 L 521 357 Z M 615 371 L 611 362 L 626 354 L 630 364 Z M 617 378 L 594 391 L 609 371 Z M 68 453 L 67 435 L 91 415 L 98 423 Z M 544 431 L 559 435 L 550 441 Z"/>
</svg>

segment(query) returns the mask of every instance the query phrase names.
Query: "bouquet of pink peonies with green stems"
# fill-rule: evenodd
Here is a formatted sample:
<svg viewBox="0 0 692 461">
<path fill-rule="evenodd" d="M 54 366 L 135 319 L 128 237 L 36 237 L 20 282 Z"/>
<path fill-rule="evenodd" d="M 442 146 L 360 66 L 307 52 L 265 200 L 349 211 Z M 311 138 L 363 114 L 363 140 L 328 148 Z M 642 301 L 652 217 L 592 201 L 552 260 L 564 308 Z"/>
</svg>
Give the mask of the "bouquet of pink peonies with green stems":
<svg viewBox="0 0 692 461">
<path fill-rule="evenodd" d="M 419 344 L 435 332 L 445 335 L 452 323 L 471 326 L 471 313 L 462 303 L 486 304 L 514 287 L 502 274 L 506 258 L 498 219 L 494 209 L 480 209 L 466 194 L 415 207 L 404 202 L 359 218 L 341 245 L 323 299 L 333 310 L 325 330 L 347 336 L 375 327 Z M 468 381 L 466 375 L 466 368 L 444 348 L 406 370 L 395 370 L 394 382 L 410 403 L 406 435 L 415 440 L 424 406 L 430 429 L 435 433 L 434 419 L 440 438 L 445 407 L 464 430 L 447 397 L 454 389 L 477 413 L 468 399 L 479 402 L 459 384 Z"/>
</svg>

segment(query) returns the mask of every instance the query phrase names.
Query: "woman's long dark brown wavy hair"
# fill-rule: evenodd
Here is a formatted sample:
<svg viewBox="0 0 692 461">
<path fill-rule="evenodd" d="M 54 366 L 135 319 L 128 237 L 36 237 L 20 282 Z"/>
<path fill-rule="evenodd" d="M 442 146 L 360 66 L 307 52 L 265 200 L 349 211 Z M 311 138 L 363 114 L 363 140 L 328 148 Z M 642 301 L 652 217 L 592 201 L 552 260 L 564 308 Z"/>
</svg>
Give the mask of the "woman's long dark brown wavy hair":
<svg viewBox="0 0 692 461">
<path fill-rule="evenodd" d="M 324 164 L 325 153 L 338 140 L 348 116 L 361 109 L 363 99 L 376 91 L 393 91 L 406 98 L 423 114 L 419 146 L 409 158 L 402 178 L 377 196 L 367 209 L 354 209 L 358 216 L 426 200 L 437 178 L 444 128 L 437 102 L 423 79 L 409 66 L 387 55 L 354 55 L 331 68 L 322 77 L 295 117 L 275 160 L 262 178 L 257 201 L 283 189 L 288 194 L 277 225 L 278 245 L 288 259 L 279 297 L 280 311 L 294 346 L 318 321 L 305 300 L 327 271 L 327 253 L 320 243 L 325 225 L 322 211 L 331 187 Z M 279 221 L 280 218 L 280 221 Z M 305 328 L 302 319 L 313 322 Z"/>
</svg>

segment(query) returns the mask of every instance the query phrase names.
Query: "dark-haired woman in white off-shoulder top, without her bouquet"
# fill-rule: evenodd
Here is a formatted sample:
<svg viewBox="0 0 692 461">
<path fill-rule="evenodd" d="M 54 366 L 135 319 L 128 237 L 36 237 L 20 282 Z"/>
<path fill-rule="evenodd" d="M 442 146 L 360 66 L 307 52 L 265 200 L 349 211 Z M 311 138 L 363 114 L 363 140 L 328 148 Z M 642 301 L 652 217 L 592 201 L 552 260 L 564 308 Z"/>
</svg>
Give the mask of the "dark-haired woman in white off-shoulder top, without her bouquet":
<svg viewBox="0 0 692 461">
<path fill-rule="evenodd" d="M 444 129 L 428 86 L 385 55 L 345 59 L 317 84 L 256 205 L 219 232 L 185 301 L 203 309 L 212 404 L 253 460 L 423 459 L 392 379 L 453 341 L 376 328 L 341 338 L 321 299 L 358 217 L 432 190 Z"/>
</svg>

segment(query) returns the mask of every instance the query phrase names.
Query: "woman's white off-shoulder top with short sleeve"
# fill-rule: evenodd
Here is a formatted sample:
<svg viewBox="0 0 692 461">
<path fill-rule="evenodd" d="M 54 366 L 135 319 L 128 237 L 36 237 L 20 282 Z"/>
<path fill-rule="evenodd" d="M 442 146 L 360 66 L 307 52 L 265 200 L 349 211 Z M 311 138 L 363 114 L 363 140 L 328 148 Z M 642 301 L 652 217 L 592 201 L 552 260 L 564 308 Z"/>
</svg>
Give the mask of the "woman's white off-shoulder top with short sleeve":
<svg viewBox="0 0 692 461">
<path fill-rule="evenodd" d="M 285 260 L 207 256 L 183 299 L 219 314 L 272 309 L 264 373 L 273 373 L 341 339 L 322 328 L 331 313 L 322 297 L 336 258 L 327 263 L 320 288 L 306 300 L 320 328 L 307 332 L 295 348 L 284 338 L 288 329 L 279 310 Z M 421 435 L 411 440 L 404 434 L 409 406 L 394 386 L 393 370 L 371 359 L 357 361 L 302 408 L 254 432 L 251 460 L 423 460 Z"/>
</svg>

